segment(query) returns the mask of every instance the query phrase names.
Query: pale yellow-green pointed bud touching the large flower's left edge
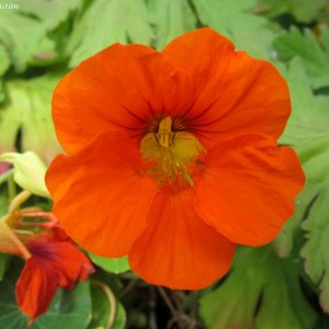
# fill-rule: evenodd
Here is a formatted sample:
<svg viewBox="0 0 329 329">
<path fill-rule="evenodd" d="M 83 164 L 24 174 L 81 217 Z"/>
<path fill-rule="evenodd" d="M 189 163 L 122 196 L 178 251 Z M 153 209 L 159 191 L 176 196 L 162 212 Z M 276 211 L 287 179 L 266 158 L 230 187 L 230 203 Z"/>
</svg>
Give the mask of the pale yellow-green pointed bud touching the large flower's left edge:
<svg viewBox="0 0 329 329">
<path fill-rule="evenodd" d="M 36 195 L 50 197 L 45 185 L 47 167 L 35 152 L 5 152 L 0 155 L 0 162 L 1 161 L 13 164 L 14 181 L 22 189 Z"/>
</svg>

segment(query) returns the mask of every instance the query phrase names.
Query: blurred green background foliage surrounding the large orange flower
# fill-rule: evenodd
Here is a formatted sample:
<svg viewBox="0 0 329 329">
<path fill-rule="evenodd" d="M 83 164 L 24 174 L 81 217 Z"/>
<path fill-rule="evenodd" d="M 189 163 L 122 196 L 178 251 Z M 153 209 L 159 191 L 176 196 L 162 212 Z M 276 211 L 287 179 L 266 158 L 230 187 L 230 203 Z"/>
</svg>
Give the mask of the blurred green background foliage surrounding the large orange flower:
<svg viewBox="0 0 329 329">
<path fill-rule="evenodd" d="M 292 116 L 280 139 L 307 175 L 296 211 L 274 243 L 239 248 L 231 272 L 195 295 L 147 286 L 126 260 L 91 256 L 98 280 L 58 292 L 32 328 L 316 329 L 329 318 L 329 3 L 326 0 L 25 0 L 0 10 L 0 151 L 58 151 L 52 90 L 81 60 L 115 43 L 161 49 L 175 36 L 211 26 L 238 49 L 272 61 L 286 78 Z M 0 185 L 0 212 L 8 206 Z M 24 328 L 13 279 L 0 254 L 0 328 Z M 205 269 L 206 271 L 206 269 Z M 5 272 L 5 275 L 3 276 Z M 117 273 L 114 279 L 110 272 Z M 98 274 L 99 275 L 99 274 Z M 193 273 L 191 273 L 193 275 Z M 117 283 L 120 282 L 120 283 Z M 118 299 L 126 307 L 125 311 Z M 168 302 L 169 300 L 169 302 Z M 168 304 L 169 303 L 169 304 Z M 198 303 L 201 305 L 197 308 Z M 113 306 L 116 305 L 116 306 Z M 115 308 L 113 308 L 115 307 Z M 175 311 L 172 311 L 172 307 Z M 171 310 L 171 311 L 170 311 Z M 163 316 L 164 314 L 164 316 Z M 189 327 L 190 326 L 190 327 Z"/>
</svg>

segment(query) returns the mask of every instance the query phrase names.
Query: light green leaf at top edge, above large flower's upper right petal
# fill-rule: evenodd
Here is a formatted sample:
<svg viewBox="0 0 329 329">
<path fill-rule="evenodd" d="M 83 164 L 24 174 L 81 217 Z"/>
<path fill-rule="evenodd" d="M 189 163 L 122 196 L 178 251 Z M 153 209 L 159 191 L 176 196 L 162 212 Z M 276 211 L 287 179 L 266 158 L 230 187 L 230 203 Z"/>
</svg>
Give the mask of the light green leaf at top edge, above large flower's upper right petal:
<svg viewBox="0 0 329 329">
<path fill-rule="evenodd" d="M 192 0 L 201 22 L 231 39 L 239 50 L 259 58 L 274 58 L 274 33 L 269 21 L 251 13 L 256 0 Z"/>
</svg>

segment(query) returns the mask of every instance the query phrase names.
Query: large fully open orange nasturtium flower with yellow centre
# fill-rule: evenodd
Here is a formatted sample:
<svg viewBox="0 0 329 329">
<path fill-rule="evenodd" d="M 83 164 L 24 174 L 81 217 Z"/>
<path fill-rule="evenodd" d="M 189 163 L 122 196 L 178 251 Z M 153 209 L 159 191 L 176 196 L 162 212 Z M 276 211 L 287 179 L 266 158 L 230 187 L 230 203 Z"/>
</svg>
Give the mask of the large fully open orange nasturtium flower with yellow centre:
<svg viewBox="0 0 329 329">
<path fill-rule="evenodd" d="M 67 234 L 103 257 L 128 254 L 145 281 L 212 284 L 237 243 L 261 246 L 304 184 L 279 147 L 286 82 L 211 29 L 161 53 L 115 44 L 57 86 L 53 118 L 67 152 L 46 174 Z"/>
</svg>

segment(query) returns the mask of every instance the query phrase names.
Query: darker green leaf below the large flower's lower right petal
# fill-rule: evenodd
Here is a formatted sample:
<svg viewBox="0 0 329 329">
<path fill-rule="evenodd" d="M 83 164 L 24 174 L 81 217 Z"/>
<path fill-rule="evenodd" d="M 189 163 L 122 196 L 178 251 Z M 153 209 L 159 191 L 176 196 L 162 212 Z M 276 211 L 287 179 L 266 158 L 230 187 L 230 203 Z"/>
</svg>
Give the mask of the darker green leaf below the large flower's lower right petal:
<svg viewBox="0 0 329 329">
<path fill-rule="evenodd" d="M 292 259 L 280 260 L 271 246 L 240 248 L 227 280 L 201 299 L 206 328 L 315 328 L 298 275 Z"/>
</svg>

